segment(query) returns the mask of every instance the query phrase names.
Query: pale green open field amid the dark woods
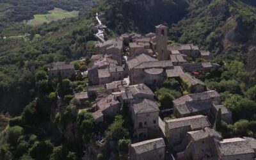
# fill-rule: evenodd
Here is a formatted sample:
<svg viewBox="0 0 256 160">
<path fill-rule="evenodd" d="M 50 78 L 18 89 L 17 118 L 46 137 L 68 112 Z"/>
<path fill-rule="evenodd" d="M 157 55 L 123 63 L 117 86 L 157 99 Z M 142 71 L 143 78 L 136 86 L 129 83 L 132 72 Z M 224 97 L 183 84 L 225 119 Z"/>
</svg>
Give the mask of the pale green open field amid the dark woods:
<svg viewBox="0 0 256 160">
<path fill-rule="evenodd" d="M 44 22 L 49 23 L 60 19 L 77 17 L 78 13 L 79 11 L 67 12 L 61 8 L 54 8 L 54 10 L 49 11 L 49 14 L 34 15 L 34 19 L 28 20 L 27 24 L 31 26 L 38 26 L 40 24 L 44 24 Z"/>
</svg>

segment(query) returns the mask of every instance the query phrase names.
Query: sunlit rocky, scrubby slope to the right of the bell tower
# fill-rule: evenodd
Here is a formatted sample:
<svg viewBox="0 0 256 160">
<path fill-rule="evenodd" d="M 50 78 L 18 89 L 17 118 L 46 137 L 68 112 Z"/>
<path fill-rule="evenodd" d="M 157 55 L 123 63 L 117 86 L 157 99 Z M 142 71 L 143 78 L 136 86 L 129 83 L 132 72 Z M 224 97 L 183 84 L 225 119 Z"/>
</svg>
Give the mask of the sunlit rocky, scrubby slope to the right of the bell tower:
<svg viewBox="0 0 256 160">
<path fill-rule="evenodd" d="M 192 1 L 188 15 L 171 29 L 171 38 L 243 60 L 255 45 L 256 8 L 250 1 Z M 193 5 L 191 5 L 193 4 Z"/>
</svg>

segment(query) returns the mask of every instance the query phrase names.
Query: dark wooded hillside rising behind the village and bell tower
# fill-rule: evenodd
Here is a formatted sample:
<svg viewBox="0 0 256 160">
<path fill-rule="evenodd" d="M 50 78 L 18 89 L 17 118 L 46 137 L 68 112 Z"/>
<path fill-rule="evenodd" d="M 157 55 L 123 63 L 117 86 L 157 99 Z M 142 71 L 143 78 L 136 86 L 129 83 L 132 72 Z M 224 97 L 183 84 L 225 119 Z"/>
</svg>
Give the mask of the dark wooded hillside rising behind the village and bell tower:
<svg viewBox="0 0 256 160">
<path fill-rule="evenodd" d="M 140 2 L 106 1 L 106 24 L 117 33 L 145 33 L 165 23 L 172 26 L 173 42 L 200 45 L 227 60 L 243 61 L 248 70 L 255 68 L 255 1 L 168 0 L 154 6 Z"/>
</svg>

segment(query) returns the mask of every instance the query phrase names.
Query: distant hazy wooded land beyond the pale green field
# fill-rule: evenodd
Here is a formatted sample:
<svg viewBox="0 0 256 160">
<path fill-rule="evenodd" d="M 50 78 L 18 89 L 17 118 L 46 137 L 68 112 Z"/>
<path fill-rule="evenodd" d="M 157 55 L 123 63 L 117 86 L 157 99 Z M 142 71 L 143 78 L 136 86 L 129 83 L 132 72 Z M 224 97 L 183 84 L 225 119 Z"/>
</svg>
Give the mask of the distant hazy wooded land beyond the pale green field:
<svg viewBox="0 0 256 160">
<path fill-rule="evenodd" d="M 83 14 L 100 0 L 0 0 L 0 35 L 19 35 L 29 31 L 24 20 L 33 19 L 36 14 L 46 14 L 49 10 L 77 10 Z"/>
</svg>

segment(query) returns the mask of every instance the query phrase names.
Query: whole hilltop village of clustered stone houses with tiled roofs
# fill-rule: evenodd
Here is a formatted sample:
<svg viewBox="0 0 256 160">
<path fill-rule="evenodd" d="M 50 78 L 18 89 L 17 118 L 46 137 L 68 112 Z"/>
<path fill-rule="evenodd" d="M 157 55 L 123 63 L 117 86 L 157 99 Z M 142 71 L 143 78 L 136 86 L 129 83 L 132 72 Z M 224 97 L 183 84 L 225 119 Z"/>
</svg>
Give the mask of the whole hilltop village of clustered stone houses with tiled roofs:
<svg viewBox="0 0 256 160">
<path fill-rule="evenodd" d="M 220 65 L 211 63 L 211 53 L 196 45 L 169 47 L 167 36 L 168 27 L 163 24 L 147 35 L 125 33 L 95 45 L 87 72 L 57 62 L 48 68 L 48 74 L 88 77 L 86 92 L 74 92 L 74 97 L 82 102 L 95 99 L 87 111 L 97 124 L 108 122 L 126 108 L 134 135 L 128 159 L 253 159 L 255 139 L 223 139 L 214 130 L 218 115 L 232 124 L 232 112 L 223 105 L 220 94 L 207 90 L 196 76 Z M 198 58 L 204 62 L 191 63 Z M 154 91 L 172 79 L 186 92 L 172 101 L 173 108 L 161 109 Z M 100 143 L 104 145 L 104 141 Z"/>
</svg>

